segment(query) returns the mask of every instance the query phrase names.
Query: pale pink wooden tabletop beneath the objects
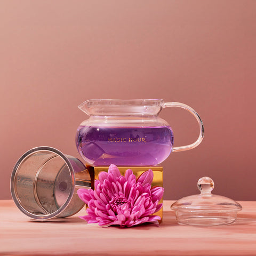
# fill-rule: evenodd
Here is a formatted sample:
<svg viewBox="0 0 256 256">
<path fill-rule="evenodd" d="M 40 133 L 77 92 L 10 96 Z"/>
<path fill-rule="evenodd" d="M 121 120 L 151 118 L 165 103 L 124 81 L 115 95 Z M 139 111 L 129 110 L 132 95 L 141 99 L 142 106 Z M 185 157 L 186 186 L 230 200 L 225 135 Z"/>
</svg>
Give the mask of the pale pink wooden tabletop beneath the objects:
<svg viewBox="0 0 256 256">
<path fill-rule="evenodd" d="M 134 228 L 88 225 L 79 215 L 36 222 L 0 201 L 0 255 L 256 255 L 256 202 L 227 226 L 178 225 L 164 201 L 163 223 Z"/>
</svg>

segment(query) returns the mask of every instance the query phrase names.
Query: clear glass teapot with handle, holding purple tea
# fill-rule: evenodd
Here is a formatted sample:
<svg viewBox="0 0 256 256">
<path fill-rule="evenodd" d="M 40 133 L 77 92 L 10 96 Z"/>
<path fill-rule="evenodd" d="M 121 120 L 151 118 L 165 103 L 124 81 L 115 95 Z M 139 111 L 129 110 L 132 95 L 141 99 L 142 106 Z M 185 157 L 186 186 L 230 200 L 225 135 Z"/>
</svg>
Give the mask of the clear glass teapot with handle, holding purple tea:
<svg viewBox="0 0 256 256">
<path fill-rule="evenodd" d="M 186 109 L 197 119 L 200 133 L 194 143 L 173 147 L 172 129 L 158 116 L 166 107 Z M 90 117 L 77 129 L 77 150 L 93 166 L 157 165 L 171 152 L 197 147 L 204 136 L 199 115 L 193 108 L 179 102 L 153 99 L 87 100 L 78 108 Z"/>
</svg>

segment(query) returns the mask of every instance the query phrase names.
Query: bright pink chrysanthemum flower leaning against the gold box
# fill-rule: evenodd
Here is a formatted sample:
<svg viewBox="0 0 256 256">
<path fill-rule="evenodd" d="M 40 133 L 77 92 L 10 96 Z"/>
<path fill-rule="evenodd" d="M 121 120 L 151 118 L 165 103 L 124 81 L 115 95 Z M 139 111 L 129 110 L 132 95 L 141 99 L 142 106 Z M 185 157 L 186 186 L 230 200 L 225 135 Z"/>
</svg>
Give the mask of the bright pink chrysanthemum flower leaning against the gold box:
<svg viewBox="0 0 256 256">
<path fill-rule="evenodd" d="M 153 171 L 148 170 L 136 180 L 131 169 L 122 176 L 111 164 L 108 172 L 100 172 L 95 189 L 78 189 L 78 196 L 89 206 L 88 215 L 81 217 L 100 226 L 131 227 L 145 222 L 157 223 L 161 218 L 153 213 L 162 208 L 162 187 L 151 188 Z"/>
</svg>

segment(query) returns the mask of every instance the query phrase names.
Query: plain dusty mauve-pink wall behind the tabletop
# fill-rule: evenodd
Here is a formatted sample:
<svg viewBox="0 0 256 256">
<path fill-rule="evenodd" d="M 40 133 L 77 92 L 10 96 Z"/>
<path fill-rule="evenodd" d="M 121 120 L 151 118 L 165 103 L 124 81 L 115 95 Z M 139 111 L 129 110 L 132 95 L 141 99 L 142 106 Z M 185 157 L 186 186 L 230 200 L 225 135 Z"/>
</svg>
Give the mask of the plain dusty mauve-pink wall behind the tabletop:
<svg viewBox="0 0 256 256">
<path fill-rule="evenodd" d="M 256 200 L 256 1 L 0 2 L 0 199 L 30 148 L 81 157 L 77 126 L 87 99 L 146 98 L 195 108 L 199 147 L 163 163 L 165 199 L 198 193 Z M 174 144 L 198 125 L 186 110 L 162 110 Z"/>
</svg>

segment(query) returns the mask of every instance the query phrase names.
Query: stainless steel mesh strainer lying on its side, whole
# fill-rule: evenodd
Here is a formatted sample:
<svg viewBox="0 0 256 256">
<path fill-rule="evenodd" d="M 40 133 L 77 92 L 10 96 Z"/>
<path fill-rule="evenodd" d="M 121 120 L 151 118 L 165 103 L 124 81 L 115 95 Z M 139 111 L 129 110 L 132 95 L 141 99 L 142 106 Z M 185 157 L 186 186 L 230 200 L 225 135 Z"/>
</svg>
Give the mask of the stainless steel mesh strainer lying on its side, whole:
<svg viewBox="0 0 256 256">
<path fill-rule="evenodd" d="M 68 217 L 81 210 L 84 202 L 76 194 L 78 188 L 91 188 L 88 170 L 77 158 L 52 147 L 27 151 L 11 176 L 13 201 L 38 220 Z"/>
</svg>

